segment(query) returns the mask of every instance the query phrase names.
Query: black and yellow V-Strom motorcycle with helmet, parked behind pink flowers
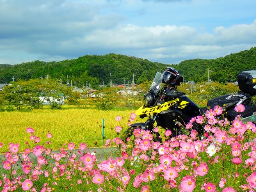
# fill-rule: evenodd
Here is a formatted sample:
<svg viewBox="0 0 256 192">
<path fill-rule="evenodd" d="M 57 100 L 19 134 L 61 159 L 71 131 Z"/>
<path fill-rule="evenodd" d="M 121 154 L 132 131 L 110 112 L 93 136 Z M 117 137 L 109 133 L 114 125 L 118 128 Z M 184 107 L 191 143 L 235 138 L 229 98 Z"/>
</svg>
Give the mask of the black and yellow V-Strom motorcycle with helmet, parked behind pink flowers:
<svg viewBox="0 0 256 192">
<path fill-rule="evenodd" d="M 184 92 L 178 91 L 177 88 L 181 82 L 183 77 L 174 68 L 167 67 L 163 73 L 157 72 L 149 91 L 144 95 L 144 105 L 135 113 L 142 119 L 146 117 L 148 119 L 145 122 L 130 125 L 126 135 L 130 137 L 136 128 L 152 132 L 156 122 L 156 126 L 171 130 L 171 137 L 175 137 L 182 134 L 181 127 L 186 126 L 193 117 L 206 114 L 209 108 L 213 109 L 216 105 L 225 109 L 227 119 L 233 121 L 238 115 L 234 110 L 235 107 L 242 104 L 245 106 L 245 111 L 240 113 L 241 120 L 244 123 L 248 121 L 256 123 L 256 106 L 251 99 L 256 95 L 256 71 L 239 73 L 238 85 L 241 91 L 238 94 L 227 94 L 210 99 L 206 107 L 199 107 Z M 203 135 L 202 125 L 194 122 L 192 128 L 199 135 Z M 162 142 L 159 136 L 160 134 L 156 133 L 155 140 Z"/>
</svg>

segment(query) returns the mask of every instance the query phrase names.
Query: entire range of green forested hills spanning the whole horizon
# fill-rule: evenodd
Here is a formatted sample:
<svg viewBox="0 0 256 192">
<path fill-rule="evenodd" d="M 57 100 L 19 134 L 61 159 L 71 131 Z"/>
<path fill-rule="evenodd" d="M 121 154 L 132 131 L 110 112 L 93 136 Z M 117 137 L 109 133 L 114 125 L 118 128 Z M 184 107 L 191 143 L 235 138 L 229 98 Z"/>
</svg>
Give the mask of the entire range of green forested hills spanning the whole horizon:
<svg viewBox="0 0 256 192">
<path fill-rule="evenodd" d="M 185 81 L 194 80 L 202 82 L 208 80 L 208 69 L 210 79 L 219 82 L 233 82 L 241 71 L 256 70 L 256 47 L 233 53 L 217 59 L 190 59 L 180 64 L 161 64 L 151 62 L 147 59 L 130 57 L 126 55 L 85 55 L 78 59 L 64 60 L 60 62 L 34 61 L 17 65 L 0 64 L 0 83 L 10 82 L 12 77 L 17 79 L 30 78 L 55 78 L 63 82 L 76 81 L 81 86 L 91 81 L 107 85 L 112 83 L 131 84 L 133 78 L 135 83 L 152 80 L 155 72 L 162 72 L 166 66 L 176 68 Z M 111 73 L 111 75 L 110 75 Z"/>
</svg>

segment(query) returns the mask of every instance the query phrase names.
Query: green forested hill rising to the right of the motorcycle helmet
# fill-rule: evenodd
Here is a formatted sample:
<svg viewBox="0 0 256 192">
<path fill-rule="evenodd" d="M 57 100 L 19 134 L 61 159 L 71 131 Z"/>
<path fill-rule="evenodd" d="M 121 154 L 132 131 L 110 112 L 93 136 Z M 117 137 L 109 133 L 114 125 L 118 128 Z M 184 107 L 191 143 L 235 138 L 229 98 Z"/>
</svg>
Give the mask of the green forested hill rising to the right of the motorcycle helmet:
<svg viewBox="0 0 256 192">
<path fill-rule="evenodd" d="M 241 71 L 256 70 L 256 47 L 217 59 L 191 59 L 172 66 L 184 74 L 185 81 L 206 81 L 209 69 L 211 80 L 231 82 L 233 78 L 234 82 Z"/>
</svg>

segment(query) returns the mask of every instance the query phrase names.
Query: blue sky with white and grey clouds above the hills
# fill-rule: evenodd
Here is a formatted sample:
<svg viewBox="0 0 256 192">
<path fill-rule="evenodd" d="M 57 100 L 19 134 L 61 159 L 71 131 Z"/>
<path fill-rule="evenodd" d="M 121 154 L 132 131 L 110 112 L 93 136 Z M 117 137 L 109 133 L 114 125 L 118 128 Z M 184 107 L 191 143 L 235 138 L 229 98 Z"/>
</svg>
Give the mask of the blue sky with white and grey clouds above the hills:
<svg viewBox="0 0 256 192">
<path fill-rule="evenodd" d="M 116 53 L 178 64 L 256 46 L 256 0 L 0 0 L 0 64 Z"/>
</svg>

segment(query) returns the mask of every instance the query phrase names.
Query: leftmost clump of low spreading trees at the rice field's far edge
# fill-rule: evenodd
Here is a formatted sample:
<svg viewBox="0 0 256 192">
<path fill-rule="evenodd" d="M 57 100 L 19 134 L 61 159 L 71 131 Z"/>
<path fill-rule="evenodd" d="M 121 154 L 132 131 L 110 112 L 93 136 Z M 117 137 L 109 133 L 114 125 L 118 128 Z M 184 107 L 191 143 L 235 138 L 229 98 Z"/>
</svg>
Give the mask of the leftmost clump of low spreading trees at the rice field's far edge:
<svg viewBox="0 0 256 192">
<path fill-rule="evenodd" d="M 17 110 L 27 107 L 40 109 L 43 100 L 47 100 L 52 109 L 59 109 L 70 93 L 71 89 L 55 80 L 18 80 L 4 87 L 0 99 L 2 105 L 16 107 Z"/>
</svg>

